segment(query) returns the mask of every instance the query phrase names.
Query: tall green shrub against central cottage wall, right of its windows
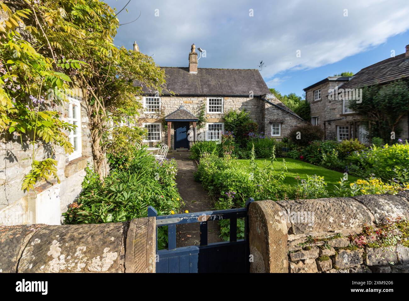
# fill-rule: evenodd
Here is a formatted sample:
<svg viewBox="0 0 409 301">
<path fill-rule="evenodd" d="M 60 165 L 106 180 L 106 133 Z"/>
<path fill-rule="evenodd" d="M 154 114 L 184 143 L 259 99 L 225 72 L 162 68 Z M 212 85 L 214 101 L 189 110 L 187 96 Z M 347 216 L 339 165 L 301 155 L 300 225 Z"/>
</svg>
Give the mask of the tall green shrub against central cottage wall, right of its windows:
<svg viewBox="0 0 409 301">
<path fill-rule="evenodd" d="M 254 122 L 247 111 L 229 110 L 224 115 L 225 131 L 234 133 L 236 142 L 241 147 L 247 146 L 249 133 L 256 133 L 258 124 Z"/>
</svg>

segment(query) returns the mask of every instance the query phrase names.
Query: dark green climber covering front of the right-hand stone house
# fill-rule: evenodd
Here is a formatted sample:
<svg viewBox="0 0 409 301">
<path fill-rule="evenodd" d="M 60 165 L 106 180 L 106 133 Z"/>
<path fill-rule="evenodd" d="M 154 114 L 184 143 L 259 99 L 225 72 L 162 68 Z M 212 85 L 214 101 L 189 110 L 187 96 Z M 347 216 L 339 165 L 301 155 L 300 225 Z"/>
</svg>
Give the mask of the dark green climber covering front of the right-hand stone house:
<svg viewBox="0 0 409 301">
<path fill-rule="evenodd" d="M 364 117 L 370 138 L 391 141 L 391 132 L 399 133 L 398 123 L 409 113 L 409 86 L 404 80 L 386 85 L 364 87 L 361 102 L 350 101 L 350 108 Z M 395 141 L 391 141 L 395 142 Z"/>
</svg>

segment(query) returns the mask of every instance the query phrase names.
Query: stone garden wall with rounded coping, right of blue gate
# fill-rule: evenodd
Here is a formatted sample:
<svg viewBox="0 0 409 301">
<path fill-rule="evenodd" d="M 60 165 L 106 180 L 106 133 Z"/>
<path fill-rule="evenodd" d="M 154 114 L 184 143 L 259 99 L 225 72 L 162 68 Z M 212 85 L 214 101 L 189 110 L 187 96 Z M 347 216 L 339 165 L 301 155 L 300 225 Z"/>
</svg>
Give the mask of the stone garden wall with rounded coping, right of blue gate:
<svg viewBox="0 0 409 301">
<path fill-rule="evenodd" d="M 298 201 L 249 208 L 250 272 L 409 272 L 409 247 L 351 244 L 363 227 L 409 218 L 409 192 Z M 371 241 L 371 237 L 368 238 Z M 407 245 L 407 243 L 406 243 Z"/>
</svg>

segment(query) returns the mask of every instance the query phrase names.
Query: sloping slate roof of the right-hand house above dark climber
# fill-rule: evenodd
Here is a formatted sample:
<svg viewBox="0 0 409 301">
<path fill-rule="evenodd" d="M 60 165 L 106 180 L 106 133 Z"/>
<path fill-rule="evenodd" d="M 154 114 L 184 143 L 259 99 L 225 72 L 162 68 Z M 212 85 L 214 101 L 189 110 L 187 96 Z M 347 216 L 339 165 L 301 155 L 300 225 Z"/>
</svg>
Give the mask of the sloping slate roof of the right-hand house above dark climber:
<svg viewBox="0 0 409 301">
<path fill-rule="evenodd" d="M 363 68 L 350 81 L 341 86 L 346 88 L 363 88 L 374 84 L 385 84 L 409 76 L 409 59 L 405 53 L 385 59 L 371 66 Z"/>
</svg>

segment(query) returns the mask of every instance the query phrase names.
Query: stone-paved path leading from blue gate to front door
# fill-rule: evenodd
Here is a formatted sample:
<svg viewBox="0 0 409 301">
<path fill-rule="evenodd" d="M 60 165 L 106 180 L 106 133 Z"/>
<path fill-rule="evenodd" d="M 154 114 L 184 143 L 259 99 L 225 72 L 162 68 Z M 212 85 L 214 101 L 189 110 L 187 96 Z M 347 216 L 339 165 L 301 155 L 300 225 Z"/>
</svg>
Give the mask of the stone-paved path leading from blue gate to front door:
<svg viewBox="0 0 409 301">
<path fill-rule="evenodd" d="M 196 162 L 189 159 L 190 152 L 168 153 L 167 158 L 175 158 L 178 163 L 178 174 L 176 184 L 179 194 L 185 205 L 182 213 L 189 210 L 189 213 L 212 210 L 212 201 L 202 184 L 194 180 L 193 174 L 197 170 Z M 220 227 L 217 222 L 208 222 L 208 243 L 221 242 Z M 176 226 L 176 246 L 187 247 L 200 244 L 199 223 L 182 224 Z"/>
</svg>

